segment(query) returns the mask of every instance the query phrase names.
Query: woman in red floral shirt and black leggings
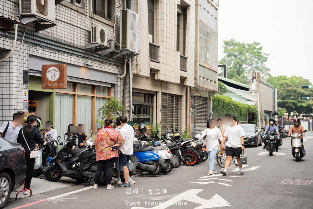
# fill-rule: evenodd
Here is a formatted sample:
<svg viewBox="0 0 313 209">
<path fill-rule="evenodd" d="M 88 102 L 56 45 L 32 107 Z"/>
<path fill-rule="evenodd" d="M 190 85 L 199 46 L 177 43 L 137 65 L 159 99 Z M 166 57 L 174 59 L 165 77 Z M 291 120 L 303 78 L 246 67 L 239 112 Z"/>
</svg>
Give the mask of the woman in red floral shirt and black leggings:
<svg viewBox="0 0 313 209">
<path fill-rule="evenodd" d="M 111 148 L 124 143 L 125 140 L 121 133 L 113 128 L 113 120 L 111 118 L 105 119 L 105 127 L 99 130 L 94 141 L 97 160 L 94 189 L 98 188 L 98 182 L 104 169 L 108 183 L 106 189 L 114 189 L 114 186 L 111 185 L 113 176 L 112 170 L 115 160 L 118 157 L 118 150 L 112 150 Z"/>
</svg>

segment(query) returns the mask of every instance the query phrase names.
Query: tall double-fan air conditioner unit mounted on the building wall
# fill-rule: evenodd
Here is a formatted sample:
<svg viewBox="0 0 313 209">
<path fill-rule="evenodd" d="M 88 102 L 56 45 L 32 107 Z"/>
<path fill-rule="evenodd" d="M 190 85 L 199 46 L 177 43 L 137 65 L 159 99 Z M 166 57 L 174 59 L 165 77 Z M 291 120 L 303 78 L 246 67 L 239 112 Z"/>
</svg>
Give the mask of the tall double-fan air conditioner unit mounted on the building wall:
<svg viewBox="0 0 313 209">
<path fill-rule="evenodd" d="M 130 9 L 121 10 L 121 50 L 131 50 L 138 53 L 139 15 Z"/>
</svg>

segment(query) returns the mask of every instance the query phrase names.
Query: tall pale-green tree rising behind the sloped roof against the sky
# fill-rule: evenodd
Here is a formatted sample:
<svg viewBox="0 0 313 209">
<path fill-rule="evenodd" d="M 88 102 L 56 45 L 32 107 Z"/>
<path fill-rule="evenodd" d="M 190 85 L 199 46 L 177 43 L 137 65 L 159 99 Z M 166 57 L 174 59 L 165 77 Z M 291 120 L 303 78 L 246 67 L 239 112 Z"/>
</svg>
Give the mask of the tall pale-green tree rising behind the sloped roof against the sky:
<svg viewBox="0 0 313 209">
<path fill-rule="evenodd" d="M 240 43 L 235 39 L 229 41 L 224 40 L 224 58 L 219 61 L 219 64 L 227 65 L 227 78 L 234 81 L 245 83 L 250 80 L 250 71 L 266 71 L 265 66 L 269 54 L 264 53 L 260 43 L 253 42 L 252 44 Z M 223 76 L 223 71 L 219 73 Z M 263 78 L 268 78 L 269 71 L 263 73 Z"/>
</svg>

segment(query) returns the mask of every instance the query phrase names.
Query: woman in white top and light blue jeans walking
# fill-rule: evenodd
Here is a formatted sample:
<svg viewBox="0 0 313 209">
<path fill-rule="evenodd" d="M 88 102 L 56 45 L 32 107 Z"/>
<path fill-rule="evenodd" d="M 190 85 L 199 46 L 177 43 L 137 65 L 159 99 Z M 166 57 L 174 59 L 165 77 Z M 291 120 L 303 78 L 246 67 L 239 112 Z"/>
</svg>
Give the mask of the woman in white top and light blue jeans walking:
<svg viewBox="0 0 313 209">
<path fill-rule="evenodd" d="M 206 136 L 207 140 L 207 152 L 209 156 L 209 173 L 208 175 L 216 174 L 216 154 L 218 152 L 218 139 L 222 140 L 222 132 L 218 128 L 212 126 L 210 121 L 213 119 L 208 119 L 207 128 L 202 132 L 202 137 Z"/>
</svg>

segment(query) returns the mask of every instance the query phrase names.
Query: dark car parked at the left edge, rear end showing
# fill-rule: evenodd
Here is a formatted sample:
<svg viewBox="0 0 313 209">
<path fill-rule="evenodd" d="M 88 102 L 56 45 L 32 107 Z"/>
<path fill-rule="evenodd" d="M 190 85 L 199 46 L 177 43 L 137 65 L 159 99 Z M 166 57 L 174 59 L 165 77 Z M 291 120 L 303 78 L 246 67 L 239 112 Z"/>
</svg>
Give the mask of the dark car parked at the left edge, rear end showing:
<svg viewBox="0 0 313 209">
<path fill-rule="evenodd" d="M 26 160 L 21 144 L 0 137 L 0 208 L 3 208 L 13 190 L 24 185 Z"/>
</svg>

